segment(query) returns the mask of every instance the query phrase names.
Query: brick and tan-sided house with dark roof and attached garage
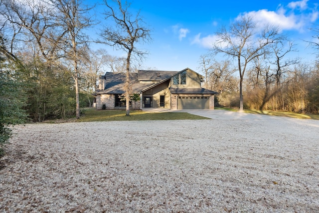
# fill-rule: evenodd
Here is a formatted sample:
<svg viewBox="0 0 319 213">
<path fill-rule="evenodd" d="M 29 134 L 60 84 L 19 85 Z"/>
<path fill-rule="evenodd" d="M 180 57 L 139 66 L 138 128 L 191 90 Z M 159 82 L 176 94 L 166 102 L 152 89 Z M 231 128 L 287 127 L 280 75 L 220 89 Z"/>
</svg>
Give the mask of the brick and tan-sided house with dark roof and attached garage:
<svg viewBox="0 0 319 213">
<path fill-rule="evenodd" d="M 131 101 L 131 109 L 214 109 L 217 92 L 201 88 L 204 76 L 186 68 L 181 71 L 139 70 L 130 73 L 131 93 L 140 101 Z M 125 73 L 106 72 L 100 76 L 96 108 L 125 109 Z"/>
</svg>

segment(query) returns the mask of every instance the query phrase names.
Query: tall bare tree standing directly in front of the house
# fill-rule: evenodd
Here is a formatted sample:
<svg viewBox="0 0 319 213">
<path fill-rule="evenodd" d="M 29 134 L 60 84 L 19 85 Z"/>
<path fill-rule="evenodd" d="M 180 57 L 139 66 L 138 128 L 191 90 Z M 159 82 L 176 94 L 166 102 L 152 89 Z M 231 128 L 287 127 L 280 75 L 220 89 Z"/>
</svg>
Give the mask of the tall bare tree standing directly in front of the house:
<svg viewBox="0 0 319 213">
<path fill-rule="evenodd" d="M 132 54 L 142 59 L 147 51 L 138 49 L 137 42 L 150 41 L 150 29 L 144 26 L 144 21 L 140 12 L 133 16 L 129 12 L 131 3 L 121 0 L 113 1 L 116 5 L 111 5 L 109 0 L 104 0 L 108 10 L 105 12 L 105 19 L 113 21 L 115 26 L 107 26 L 102 31 L 102 43 L 115 46 L 127 53 L 126 58 L 126 80 L 125 80 L 125 98 L 126 98 L 126 115 L 130 116 L 130 65 Z M 116 8 L 117 7 L 117 8 Z"/>
</svg>

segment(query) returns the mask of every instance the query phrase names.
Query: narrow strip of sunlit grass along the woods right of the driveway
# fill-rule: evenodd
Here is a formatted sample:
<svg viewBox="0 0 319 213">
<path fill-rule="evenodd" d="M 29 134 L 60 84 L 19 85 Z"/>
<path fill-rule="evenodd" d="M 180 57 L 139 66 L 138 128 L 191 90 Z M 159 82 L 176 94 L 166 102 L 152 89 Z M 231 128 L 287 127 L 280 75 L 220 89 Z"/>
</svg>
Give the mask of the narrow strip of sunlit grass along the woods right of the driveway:
<svg viewBox="0 0 319 213">
<path fill-rule="evenodd" d="M 227 111 L 237 112 L 237 108 L 215 108 L 215 109 L 223 109 Z M 245 109 L 244 112 L 252 113 L 252 114 L 263 114 L 263 115 L 272 115 L 272 116 L 282 116 L 282 117 L 289 117 L 289 118 L 302 118 L 302 119 L 314 119 L 319 120 L 319 115 L 311 115 L 311 114 L 299 114 L 293 112 L 276 112 L 276 111 L 260 111 L 260 110 L 250 110 Z"/>
</svg>

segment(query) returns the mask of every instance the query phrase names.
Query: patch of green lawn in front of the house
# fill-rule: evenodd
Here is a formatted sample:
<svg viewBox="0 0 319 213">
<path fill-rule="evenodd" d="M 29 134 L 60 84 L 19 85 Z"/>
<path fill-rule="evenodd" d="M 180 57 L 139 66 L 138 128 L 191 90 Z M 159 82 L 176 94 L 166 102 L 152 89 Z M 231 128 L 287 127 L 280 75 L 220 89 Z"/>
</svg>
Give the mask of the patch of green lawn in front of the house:
<svg viewBox="0 0 319 213">
<path fill-rule="evenodd" d="M 202 120 L 209 119 L 186 112 L 146 112 L 130 111 L 130 116 L 126 116 L 125 110 L 96 110 L 87 108 L 84 115 L 76 122 L 90 121 L 147 121 L 147 120 Z"/>
</svg>

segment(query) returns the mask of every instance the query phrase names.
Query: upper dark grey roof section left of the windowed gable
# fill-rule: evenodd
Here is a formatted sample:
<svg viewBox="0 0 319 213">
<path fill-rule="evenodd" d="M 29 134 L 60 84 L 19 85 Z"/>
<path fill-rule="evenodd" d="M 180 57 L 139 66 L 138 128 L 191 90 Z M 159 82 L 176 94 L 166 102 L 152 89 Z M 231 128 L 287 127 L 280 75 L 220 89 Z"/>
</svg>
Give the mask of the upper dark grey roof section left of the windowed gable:
<svg viewBox="0 0 319 213">
<path fill-rule="evenodd" d="M 139 70 L 140 81 L 162 81 L 180 71 Z"/>
</svg>

